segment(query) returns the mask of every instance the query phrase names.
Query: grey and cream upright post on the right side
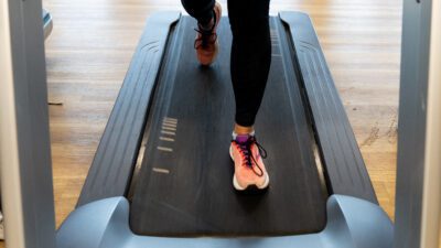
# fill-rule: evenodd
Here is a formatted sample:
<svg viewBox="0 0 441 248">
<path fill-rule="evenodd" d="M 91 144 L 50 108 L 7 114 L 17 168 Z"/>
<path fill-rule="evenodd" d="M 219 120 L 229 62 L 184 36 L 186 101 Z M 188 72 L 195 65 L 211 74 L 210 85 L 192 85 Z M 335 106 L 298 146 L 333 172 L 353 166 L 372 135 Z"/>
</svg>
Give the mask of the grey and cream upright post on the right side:
<svg viewBox="0 0 441 248">
<path fill-rule="evenodd" d="M 396 248 L 439 248 L 441 200 L 439 8 L 440 0 L 405 0 L 404 6 Z"/>
</svg>

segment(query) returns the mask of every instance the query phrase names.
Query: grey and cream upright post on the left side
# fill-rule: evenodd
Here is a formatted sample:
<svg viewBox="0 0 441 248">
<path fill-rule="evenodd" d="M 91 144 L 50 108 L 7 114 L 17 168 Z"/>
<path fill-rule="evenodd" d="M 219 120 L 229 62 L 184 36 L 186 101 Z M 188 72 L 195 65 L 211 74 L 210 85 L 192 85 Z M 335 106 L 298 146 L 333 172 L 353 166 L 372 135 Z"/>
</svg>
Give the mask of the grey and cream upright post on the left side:
<svg viewBox="0 0 441 248">
<path fill-rule="evenodd" d="M 40 0 L 0 1 L 0 172 L 8 248 L 55 248 Z"/>
</svg>

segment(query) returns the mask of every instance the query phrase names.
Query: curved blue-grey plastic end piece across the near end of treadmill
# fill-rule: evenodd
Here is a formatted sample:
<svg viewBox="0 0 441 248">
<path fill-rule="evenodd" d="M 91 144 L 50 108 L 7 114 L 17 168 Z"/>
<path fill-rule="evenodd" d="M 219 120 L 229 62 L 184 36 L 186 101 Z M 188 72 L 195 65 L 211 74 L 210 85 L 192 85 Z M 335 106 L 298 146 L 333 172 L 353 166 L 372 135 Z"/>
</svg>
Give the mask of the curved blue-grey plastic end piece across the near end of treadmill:
<svg viewBox="0 0 441 248">
<path fill-rule="evenodd" d="M 394 228 L 376 204 L 343 195 L 327 201 L 327 225 L 319 234 L 281 237 L 168 238 L 137 236 L 129 228 L 129 203 L 111 197 L 74 211 L 61 226 L 58 248 L 391 248 Z"/>
</svg>

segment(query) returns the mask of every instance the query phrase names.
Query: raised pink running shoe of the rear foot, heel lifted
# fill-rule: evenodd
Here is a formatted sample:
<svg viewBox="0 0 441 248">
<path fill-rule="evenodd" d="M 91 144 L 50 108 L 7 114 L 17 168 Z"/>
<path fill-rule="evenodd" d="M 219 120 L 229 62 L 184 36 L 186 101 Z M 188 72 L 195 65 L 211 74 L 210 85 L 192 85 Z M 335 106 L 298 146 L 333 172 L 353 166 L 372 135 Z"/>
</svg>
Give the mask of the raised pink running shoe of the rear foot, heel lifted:
<svg viewBox="0 0 441 248">
<path fill-rule="evenodd" d="M 218 2 L 214 6 L 214 25 L 211 30 L 206 31 L 198 25 L 196 40 L 194 41 L 194 48 L 196 50 L 197 61 L 205 66 L 214 62 L 219 51 L 217 42 L 216 29 L 222 18 L 222 7 Z"/>
</svg>

